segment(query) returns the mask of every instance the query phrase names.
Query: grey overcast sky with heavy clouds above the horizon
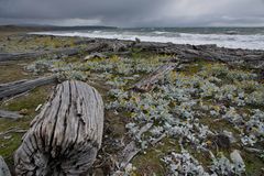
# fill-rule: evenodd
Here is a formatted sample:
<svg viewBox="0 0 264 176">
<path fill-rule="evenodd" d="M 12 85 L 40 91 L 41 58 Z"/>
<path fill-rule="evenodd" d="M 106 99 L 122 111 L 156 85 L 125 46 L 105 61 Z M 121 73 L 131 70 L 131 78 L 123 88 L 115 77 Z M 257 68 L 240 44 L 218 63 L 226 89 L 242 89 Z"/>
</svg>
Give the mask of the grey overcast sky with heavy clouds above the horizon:
<svg viewBox="0 0 264 176">
<path fill-rule="evenodd" d="M 264 0 L 0 0 L 0 24 L 264 26 Z"/>
</svg>

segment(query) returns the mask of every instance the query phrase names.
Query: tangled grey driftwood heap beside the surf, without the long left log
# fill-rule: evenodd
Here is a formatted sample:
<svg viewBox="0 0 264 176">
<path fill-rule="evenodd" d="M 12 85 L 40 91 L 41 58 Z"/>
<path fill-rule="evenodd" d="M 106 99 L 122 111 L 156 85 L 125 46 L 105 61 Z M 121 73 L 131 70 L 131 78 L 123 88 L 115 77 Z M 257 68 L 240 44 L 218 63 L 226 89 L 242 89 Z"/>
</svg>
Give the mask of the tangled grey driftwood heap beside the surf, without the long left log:
<svg viewBox="0 0 264 176">
<path fill-rule="evenodd" d="M 180 63 L 189 63 L 198 59 L 207 59 L 212 62 L 223 62 L 228 64 L 239 64 L 249 68 L 264 67 L 264 51 L 260 50 L 241 50 L 241 48 L 224 48 L 217 45 L 189 45 L 189 44 L 173 44 L 173 43 L 154 43 L 154 42 L 134 42 L 119 41 L 107 38 L 87 40 L 86 44 L 101 45 L 98 53 L 109 54 L 127 54 L 131 51 L 143 51 L 155 54 L 166 54 L 177 56 Z"/>
</svg>

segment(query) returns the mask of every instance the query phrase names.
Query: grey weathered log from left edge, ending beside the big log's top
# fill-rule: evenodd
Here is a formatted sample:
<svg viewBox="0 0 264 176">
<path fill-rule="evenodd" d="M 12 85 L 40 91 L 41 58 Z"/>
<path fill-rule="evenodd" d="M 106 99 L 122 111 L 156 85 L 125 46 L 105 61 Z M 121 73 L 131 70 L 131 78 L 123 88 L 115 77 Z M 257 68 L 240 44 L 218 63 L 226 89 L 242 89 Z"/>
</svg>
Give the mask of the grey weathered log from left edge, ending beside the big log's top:
<svg viewBox="0 0 264 176">
<path fill-rule="evenodd" d="M 36 87 L 57 82 L 57 75 L 41 77 L 31 80 L 21 80 L 0 85 L 0 99 L 15 96 Z"/>
</svg>

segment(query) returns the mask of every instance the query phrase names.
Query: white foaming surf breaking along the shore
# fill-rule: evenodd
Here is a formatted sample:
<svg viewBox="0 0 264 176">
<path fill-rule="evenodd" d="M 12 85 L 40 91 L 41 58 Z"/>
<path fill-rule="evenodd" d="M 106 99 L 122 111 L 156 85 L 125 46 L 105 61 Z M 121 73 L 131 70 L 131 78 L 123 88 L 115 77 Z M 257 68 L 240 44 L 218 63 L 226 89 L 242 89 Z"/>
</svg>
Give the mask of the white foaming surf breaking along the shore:
<svg viewBox="0 0 264 176">
<path fill-rule="evenodd" d="M 134 31 L 75 31 L 75 32 L 35 32 L 32 34 L 57 35 L 57 36 L 81 36 L 98 38 L 135 40 L 145 42 L 172 42 L 175 44 L 217 44 L 220 47 L 264 50 L 264 35 L 233 35 L 233 34 L 193 34 L 176 32 L 134 32 Z"/>
</svg>

